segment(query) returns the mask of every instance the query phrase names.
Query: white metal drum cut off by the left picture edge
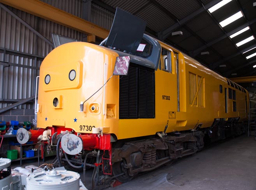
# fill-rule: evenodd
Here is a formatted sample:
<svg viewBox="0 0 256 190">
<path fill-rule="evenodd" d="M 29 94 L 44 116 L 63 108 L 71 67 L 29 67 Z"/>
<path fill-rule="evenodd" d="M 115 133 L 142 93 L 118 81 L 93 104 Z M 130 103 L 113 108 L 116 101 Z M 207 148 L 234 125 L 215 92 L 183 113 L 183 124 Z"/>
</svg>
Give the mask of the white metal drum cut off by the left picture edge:
<svg viewBox="0 0 256 190">
<path fill-rule="evenodd" d="M 0 187 L 1 190 L 10 190 L 12 183 L 11 160 L 0 158 Z"/>
</svg>

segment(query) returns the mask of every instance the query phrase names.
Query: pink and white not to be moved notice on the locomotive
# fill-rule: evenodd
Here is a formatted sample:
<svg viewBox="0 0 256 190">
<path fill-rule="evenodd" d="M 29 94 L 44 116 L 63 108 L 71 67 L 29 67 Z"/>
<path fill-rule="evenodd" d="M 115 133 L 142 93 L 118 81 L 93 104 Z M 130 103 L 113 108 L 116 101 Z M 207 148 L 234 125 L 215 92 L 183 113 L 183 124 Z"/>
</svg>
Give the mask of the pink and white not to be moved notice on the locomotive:
<svg viewBox="0 0 256 190">
<path fill-rule="evenodd" d="M 131 56 L 117 57 L 113 75 L 127 75 Z"/>
</svg>

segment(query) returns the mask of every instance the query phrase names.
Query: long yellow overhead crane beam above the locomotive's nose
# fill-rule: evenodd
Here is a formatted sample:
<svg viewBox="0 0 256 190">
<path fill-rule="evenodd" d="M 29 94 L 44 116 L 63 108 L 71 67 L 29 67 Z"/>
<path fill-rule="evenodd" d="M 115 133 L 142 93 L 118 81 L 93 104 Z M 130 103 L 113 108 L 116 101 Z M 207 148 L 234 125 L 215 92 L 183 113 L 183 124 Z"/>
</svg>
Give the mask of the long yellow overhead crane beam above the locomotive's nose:
<svg viewBox="0 0 256 190">
<path fill-rule="evenodd" d="M 57 9 L 40 0 L 0 0 L 0 2 L 79 32 L 94 34 L 101 39 L 105 39 L 109 34 L 108 30 L 94 23 Z"/>
</svg>

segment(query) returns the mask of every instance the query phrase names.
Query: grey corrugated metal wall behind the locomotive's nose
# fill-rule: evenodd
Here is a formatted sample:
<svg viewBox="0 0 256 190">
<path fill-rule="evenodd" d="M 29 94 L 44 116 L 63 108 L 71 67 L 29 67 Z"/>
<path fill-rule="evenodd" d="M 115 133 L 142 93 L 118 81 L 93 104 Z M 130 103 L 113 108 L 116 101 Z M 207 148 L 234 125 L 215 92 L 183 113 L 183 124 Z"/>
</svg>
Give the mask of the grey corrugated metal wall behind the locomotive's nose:
<svg viewBox="0 0 256 190">
<path fill-rule="evenodd" d="M 70 2 L 73 1 L 65 1 L 65 6 L 68 8 Z M 82 40 L 83 34 L 81 32 L 12 7 L 8 8 L 50 41 L 52 41 L 51 33 Z M 77 4 L 76 7 L 68 8 L 65 11 L 71 11 L 79 16 L 81 14 L 80 9 L 80 5 Z M 26 26 L 3 9 L 0 9 L 0 61 L 37 68 L 4 67 L 0 65 L 0 100 L 26 99 L 35 95 L 35 79 L 39 75 L 40 64 L 52 49 L 48 43 L 35 35 Z M 7 103 L 0 103 L 0 108 L 8 105 Z M 33 107 L 34 105 L 23 105 L 19 106 L 18 109 L 33 109 Z"/>
</svg>

